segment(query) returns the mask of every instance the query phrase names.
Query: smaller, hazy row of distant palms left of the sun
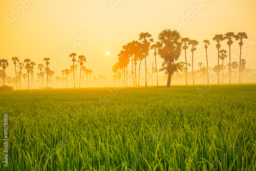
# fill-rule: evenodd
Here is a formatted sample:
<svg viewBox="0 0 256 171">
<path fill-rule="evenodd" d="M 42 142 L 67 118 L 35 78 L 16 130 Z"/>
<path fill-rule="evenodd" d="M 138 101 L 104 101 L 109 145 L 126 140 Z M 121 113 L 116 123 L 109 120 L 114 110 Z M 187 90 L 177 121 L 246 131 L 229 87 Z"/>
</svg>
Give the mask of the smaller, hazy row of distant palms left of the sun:
<svg viewBox="0 0 256 171">
<path fill-rule="evenodd" d="M 56 82 L 58 85 L 58 81 L 63 81 L 63 86 L 67 86 L 69 84 L 69 79 L 68 76 L 70 75 L 71 77 L 71 83 L 73 84 L 74 88 L 76 87 L 76 83 L 79 80 L 79 88 L 81 87 L 81 79 L 83 80 L 83 84 L 85 85 L 84 78 L 87 78 L 87 86 L 88 86 L 88 78 L 91 83 L 91 74 L 92 70 L 86 68 L 84 66 L 84 63 L 87 62 L 86 57 L 83 55 L 79 55 L 78 58 L 76 59 L 76 53 L 71 53 L 70 57 L 72 59 L 72 65 L 70 66 L 70 69 L 64 69 L 61 70 L 62 77 L 56 76 Z M 35 83 L 34 83 L 34 72 L 35 72 L 35 66 L 36 63 L 31 61 L 31 59 L 25 59 L 25 60 L 20 60 L 18 57 L 12 57 L 11 60 L 13 61 L 14 68 L 15 68 L 15 77 L 10 77 L 7 76 L 6 74 L 6 68 L 9 66 L 9 62 L 7 59 L 1 59 L 0 60 L 0 67 L 3 68 L 3 70 L 0 70 L 0 83 L 6 85 L 6 82 L 9 83 L 11 86 L 11 83 L 15 84 L 16 89 L 22 89 L 22 78 L 24 79 L 24 85 L 25 89 L 34 89 L 35 88 Z M 53 75 L 55 74 L 54 71 L 49 69 L 50 65 L 50 58 L 44 58 L 46 66 L 44 66 L 42 63 L 39 63 L 37 66 L 37 70 L 39 71 L 36 76 L 37 76 L 37 88 L 44 88 L 44 89 L 50 89 L 53 87 Z M 78 67 L 77 64 L 78 62 Z M 25 69 L 25 71 L 24 71 Z M 77 79 L 77 69 L 79 70 L 79 79 Z M 73 74 L 72 74 L 73 73 Z M 84 76 L 86 74 L 86 76 Z M 73 75 L 73 77 L 72 77 Z M 83 75 L 83 76 L 82 76 Z M 27 79 L 27 80 L 26 80 Z M 96 79 L 96 80 L 95 80 Z M 105 81 L 105 76 L 99 75 L 99 78 L 94 76 L 95 81 L 102 80 L 102 82 Z M 27 85 L 26 85 L 27 82 Z"/>
</svg>

